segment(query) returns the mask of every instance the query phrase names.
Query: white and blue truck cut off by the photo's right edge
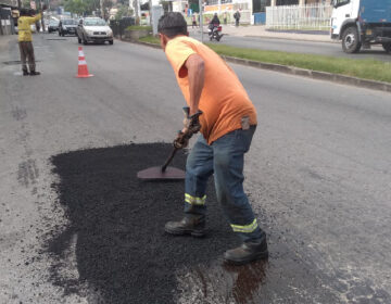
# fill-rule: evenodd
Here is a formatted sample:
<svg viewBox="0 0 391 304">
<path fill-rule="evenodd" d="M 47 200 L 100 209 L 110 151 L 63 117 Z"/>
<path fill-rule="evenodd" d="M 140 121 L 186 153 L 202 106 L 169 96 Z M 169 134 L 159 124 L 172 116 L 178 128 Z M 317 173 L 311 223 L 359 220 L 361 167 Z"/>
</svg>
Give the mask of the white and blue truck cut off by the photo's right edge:
<svg viewBox="0 0 391 304">
<path fill-rule="evenodd" d="M 391 0 L 333 0 L 331 38 L 346 53 L 382 45 L 391 52 Z"/>
</svg>

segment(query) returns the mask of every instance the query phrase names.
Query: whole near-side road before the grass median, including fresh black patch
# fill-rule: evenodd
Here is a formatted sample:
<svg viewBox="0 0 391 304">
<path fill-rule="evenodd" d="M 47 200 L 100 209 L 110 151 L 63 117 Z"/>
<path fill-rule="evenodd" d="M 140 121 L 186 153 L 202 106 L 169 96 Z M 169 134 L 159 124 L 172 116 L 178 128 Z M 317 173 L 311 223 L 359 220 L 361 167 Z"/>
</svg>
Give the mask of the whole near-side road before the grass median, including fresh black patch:
<svg viewBox="0 0 391 304">
<path fill-rule="evenodd" d="M 182 185 L 135 179 L 181 126 L 164 53 L 86 46 L 78 79 L 76 38 L 34 45 L 42 75 L 23 77 L 0 37 L 0 303 L 391 303 L 389 93 L 232 65 L 258 112 L 245 190 L 270 257 L 227 267 L 212 188 L 195 241 L 162 231 Z"/>
</svg>

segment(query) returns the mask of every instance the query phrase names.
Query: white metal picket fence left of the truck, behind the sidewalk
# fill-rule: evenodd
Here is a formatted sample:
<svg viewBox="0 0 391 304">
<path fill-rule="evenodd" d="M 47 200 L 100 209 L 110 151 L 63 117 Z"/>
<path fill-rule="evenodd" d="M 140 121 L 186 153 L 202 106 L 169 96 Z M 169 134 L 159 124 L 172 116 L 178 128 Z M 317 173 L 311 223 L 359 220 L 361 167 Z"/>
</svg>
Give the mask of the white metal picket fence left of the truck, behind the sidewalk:
<svg viewBox="0 0 391 304">
<path fill-rule="evenodd" d="M 328 4 L 266 8 L 266 27 L 274 29 L 329 30 L 332 7 Z"/>
</svg>

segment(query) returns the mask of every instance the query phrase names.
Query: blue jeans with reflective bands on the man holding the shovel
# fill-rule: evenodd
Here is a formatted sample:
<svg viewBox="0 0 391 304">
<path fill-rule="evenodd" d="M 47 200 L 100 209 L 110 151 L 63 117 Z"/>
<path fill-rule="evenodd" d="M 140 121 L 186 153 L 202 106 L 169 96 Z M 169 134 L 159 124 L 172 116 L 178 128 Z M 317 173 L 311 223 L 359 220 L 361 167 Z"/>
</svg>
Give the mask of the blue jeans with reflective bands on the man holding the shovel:
<svg viewBox="0 0 391 304">
<path fill-rule="evenodd" d="M 186 164 L 185 214 L 204 217 L 206 183 L 214 174 L 217 201 L 235 232 L 245 241 L 265 238 L 243 191 L 244 153 L 250 149 L 256 126 L 238 129 L 218 138 L 211 145 L 200 136 Z"/>
</svg>

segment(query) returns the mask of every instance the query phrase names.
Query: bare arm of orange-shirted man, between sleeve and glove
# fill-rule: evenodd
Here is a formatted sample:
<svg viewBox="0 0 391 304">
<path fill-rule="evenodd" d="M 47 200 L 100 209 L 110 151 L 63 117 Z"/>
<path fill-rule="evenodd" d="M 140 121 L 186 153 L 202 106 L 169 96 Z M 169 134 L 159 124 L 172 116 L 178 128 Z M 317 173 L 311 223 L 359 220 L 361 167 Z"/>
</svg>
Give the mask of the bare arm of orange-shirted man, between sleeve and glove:
<svg viewBox="0 0 391 304">
<path fill-rule="evenodd" d="M 204 61 L 199 54 L 190 55 L 185 66 L 188 72 L 189 92 L 190 92 L 190 113 L 189 116 L 199 111 L 199 103 L 205 80 Z"/>
</svg>

